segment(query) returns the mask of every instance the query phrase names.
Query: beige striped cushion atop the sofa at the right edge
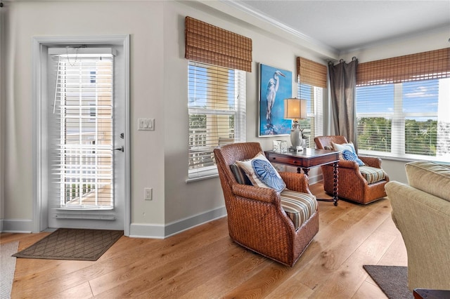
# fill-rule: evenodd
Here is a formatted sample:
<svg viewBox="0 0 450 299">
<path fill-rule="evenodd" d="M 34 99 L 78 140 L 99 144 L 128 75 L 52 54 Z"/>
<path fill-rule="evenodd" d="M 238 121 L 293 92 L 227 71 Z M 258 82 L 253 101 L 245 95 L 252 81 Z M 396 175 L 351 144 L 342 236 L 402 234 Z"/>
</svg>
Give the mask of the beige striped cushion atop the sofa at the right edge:
<svg viewBox="0 0 450 299">
<path fill-rule="evenodd" d="M 415 161 L 405 165 L 411 187 L 450 201 L 450 166 L 430 161 Z"/>
</svg>

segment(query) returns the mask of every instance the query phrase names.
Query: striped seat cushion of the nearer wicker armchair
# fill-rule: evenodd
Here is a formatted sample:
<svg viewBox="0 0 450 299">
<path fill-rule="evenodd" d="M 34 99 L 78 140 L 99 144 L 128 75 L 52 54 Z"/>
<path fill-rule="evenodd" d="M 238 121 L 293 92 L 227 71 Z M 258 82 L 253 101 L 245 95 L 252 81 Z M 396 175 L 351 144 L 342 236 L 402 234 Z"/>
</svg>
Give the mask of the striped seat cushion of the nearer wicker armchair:
<svg viewBox="0 0 450 299">
<path fill-rule="evenodd" d="M 298 230 L 317 209 L 316 197 L 311 194 L 285 189 L 280 193 L 280 198 L 281 207 L 293 221 L 295 230 Z"/>
</svg>

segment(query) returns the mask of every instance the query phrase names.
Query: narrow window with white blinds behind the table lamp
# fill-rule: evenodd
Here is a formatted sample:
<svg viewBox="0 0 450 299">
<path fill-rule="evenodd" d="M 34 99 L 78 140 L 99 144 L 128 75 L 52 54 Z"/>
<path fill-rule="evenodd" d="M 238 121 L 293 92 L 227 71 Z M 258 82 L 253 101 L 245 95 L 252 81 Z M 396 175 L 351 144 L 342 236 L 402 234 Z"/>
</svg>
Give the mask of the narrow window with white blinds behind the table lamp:
<svg viewBox="0 0 450 299">
<path fill-rule="evenodd" d="M 314 138 L 323 135 L 323 88 L 298 84 L 297 98 L 307 100 L 307 119 L 300 119 L 300 128 L 307 138 L 307 147 L 314 148 Z"/>
</svg>

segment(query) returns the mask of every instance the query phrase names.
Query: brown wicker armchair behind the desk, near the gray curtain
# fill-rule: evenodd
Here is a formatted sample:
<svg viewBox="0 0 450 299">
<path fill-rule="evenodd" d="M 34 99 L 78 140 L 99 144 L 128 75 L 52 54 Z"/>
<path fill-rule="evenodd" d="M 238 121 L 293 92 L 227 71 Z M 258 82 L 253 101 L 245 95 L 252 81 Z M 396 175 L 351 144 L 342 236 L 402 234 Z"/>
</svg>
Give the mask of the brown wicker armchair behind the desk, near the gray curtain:
<svg viewBox="0 0 450 299">
<path fill-rule="evenodd" d="M 333 142 L 337 144 L 347 143 L 347 139 L 340 135 L 319 136 L 314 138 L 316 147 L 322 150 L 333 148 Z M 367 166 L 381 168 L 381 159 L 376 157 L 358 156 Z M 389 176 L 378 182 L 368 183 L 361 174 L 359 165 L 355 161 L 341 159 L 338 164 L 339 197 L 355 201 L 359 204 L 368 204 L 372 201 L 386 197 L 385 185 L 389 182 Z M 362 166 L 364 167 L 364 166 Z M 328 194 L 333 194 L 333 166 L 321 166 L 323 173 L 323 189 Z"/>
</svg>

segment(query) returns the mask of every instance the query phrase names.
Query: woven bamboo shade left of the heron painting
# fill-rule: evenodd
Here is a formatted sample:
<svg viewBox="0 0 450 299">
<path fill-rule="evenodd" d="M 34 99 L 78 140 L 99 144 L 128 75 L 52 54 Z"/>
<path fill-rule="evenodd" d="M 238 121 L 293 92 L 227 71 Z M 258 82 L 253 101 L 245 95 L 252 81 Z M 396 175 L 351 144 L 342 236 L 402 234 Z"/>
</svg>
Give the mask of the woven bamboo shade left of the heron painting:
<svg viewBox="0 0 450 299">
<path fill-rule="evenodd" d="M 252 39 L 186 17 L 185 58 L 252 72 Z"/>
</svg>

